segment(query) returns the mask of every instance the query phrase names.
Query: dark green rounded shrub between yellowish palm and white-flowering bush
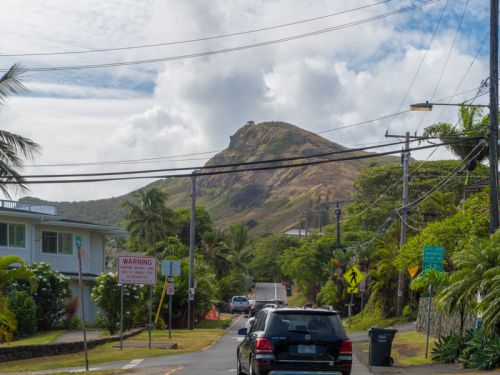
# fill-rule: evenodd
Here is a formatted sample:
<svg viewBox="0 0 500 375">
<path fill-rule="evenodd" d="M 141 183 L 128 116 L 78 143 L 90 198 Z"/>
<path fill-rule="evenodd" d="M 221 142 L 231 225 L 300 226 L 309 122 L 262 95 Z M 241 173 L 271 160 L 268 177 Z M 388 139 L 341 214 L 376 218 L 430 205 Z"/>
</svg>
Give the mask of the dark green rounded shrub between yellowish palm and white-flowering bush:
<svg viewBox="0 0 500 375">
<path fill-rule="evenodd" d="M 36 332 L 36 304 L 33 297 L 25 291 L 13 292 L 8 296 L 8 304 L 16 315 L 17 328 L 14 335 L 24 337 Z"/>
</svg>

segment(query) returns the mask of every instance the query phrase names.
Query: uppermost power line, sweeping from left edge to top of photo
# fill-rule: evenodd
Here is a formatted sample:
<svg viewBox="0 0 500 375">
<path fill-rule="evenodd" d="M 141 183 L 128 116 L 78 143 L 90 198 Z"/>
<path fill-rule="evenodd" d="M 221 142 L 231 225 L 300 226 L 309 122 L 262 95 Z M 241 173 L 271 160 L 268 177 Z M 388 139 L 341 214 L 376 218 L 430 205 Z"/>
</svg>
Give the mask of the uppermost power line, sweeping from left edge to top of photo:
<svg viewBox="0 0 500 375">
<path fill-rule="evenodd" d="M 363 9 L 371 8 L 371 7 L 374 7 L 374 6 L 377 6 L 377 5 L 382 5 L 382 4 L 385 4 L 385 3 L 389 3 L 391 1 L 392 0 L 383 0 L 383 1 L 376 2 L 376 3 L 372 3 L 372 4 L 363 5 L 363 6 L 360 6 L 360 7 L 357 7 L 357 8 L 352 8 L 352 9 L 343 10 L 343 11 L 340 11 L 340 12 L 326 14 L 326 15 L 323 15 L 323 16 L 302 19 L 302 20 L 298 20 L 298 21 L 294 21 L 294 22 L 288 22 L 288 23 L 284 23 L 284 24 L 280 24 L 280 25 L 262 27 L 262 28 L 252 29 L 252 30 L 246 30 L 246 31 L 238 31 L 238 32 L 234 32 L 234 33 L 221 34 L 221 35 L 215 35 L 215 36 L 209 36 L 209 37 L 201 37 L 201 38 L 195 38 L 195 39 L 186 39 L 186 40 L 178 40 L 178 41 L 173 41 L 173 42 L 163 42 L 163 43 L 154 43 L 154 44 L 142 44 L 142 45 L 126 46 L 126 47 L 92 48 L 92 49 L 81 50 L 81 51 L 60 51 L 60 52 L 38 52 L 38 53 L 35 52 L 35 53 L 18 53 L 18 54 L 0 54 L 0 57 L 75 55 L 75 54 L 123 51 L 123 50 L 131 50 L 131 49 L 142 49 L 142 48 L 162 47 L 162 46 L 171 46 L 171 45 L 178 45 L 178 44 L 203 42 L 203 41 L 208 41 L 208 40 L 222 39 L 222 38 L 228 38 L 228 37 L 233 37 L 233 36 L 238 36 L 238 35 L 254 34 L 254 33 L 261 32 L 261 31 L 268 31 L 268 30 L 274 30 L 274 29 L 279 29 L 279 28 L 288 27 L 288 26 L 300 25 L 300 24 L 303 24 L 303 23 L 308 23 L 308 22 L 312 22 L 312 21 L 318 21 L 318 20 L 322 20 L 322 19 L 326 19 L 326 18 L 331 18 L 331 17 L 334 17 L 334 16 L 339 16 L 339 15 L 342 15 L 342 14 L 356 12 L 358 10 L 363 10 Z"/>
</svg>

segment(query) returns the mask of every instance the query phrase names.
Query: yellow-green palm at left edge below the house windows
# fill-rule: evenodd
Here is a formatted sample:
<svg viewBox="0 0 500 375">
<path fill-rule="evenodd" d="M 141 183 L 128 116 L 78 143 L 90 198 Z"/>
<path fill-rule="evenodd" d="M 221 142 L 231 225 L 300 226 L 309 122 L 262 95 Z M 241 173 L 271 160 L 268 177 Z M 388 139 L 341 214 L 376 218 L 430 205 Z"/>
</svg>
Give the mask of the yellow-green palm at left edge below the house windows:
<svg viewBox="0 0 500 375">
<path fill-rule="evenodd" d="M 0 257 L 0 342 L 11 341 L 12 334 L 16 331 L 16 316 L 9 309 L 4 289 L 7 283 L 13 280 L 26 280 L 31 288 L 36 288 L 36 279 L 33 273 L 23 267 L 13 268 L 15 264 L 24 264 L 24 260 L 17 255 Z"/>
</svg>

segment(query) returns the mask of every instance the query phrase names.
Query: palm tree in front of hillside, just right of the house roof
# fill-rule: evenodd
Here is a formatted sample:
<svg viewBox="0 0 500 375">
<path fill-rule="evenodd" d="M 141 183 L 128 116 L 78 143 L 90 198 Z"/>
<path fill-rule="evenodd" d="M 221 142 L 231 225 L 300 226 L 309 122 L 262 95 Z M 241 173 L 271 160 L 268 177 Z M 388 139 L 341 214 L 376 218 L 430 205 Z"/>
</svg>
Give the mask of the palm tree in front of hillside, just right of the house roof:
<svg viewBox="0 0 500 375">
<path fill-rule="evenodd" d="M 174 212 L 165 203 L 167 195 L 158 188 L 133 193 L 135 202 L 124 202 L 128 209 L 127 230 L 154 251 L 157 241 L 172 233 Z"/>
</svg>

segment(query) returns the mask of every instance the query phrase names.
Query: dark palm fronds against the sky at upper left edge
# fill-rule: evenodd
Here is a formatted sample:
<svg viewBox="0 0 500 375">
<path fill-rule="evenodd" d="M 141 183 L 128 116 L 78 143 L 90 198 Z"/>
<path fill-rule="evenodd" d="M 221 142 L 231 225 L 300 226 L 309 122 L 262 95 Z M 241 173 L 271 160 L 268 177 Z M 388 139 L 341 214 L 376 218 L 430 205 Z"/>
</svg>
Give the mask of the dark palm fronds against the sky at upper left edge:
<svg viewBox="0 0 500 375">
<path fill-rule="evenodd" d="M 5 104 L 7 97 L 26 91 L 20 77 L 26 73 L 21 65 L 14 64 L 0 77 L 0 108 Z M 32 160 L 40 152 L 40 146 L 31 139 L 18 134 L 0 130 L 0 178 L 25 191 L 26 180 L 19 174 L 23 167 L 23 157 Z M 10 197 L 6 184 L 0 184 L 0 190 Z"/>
</svg>

